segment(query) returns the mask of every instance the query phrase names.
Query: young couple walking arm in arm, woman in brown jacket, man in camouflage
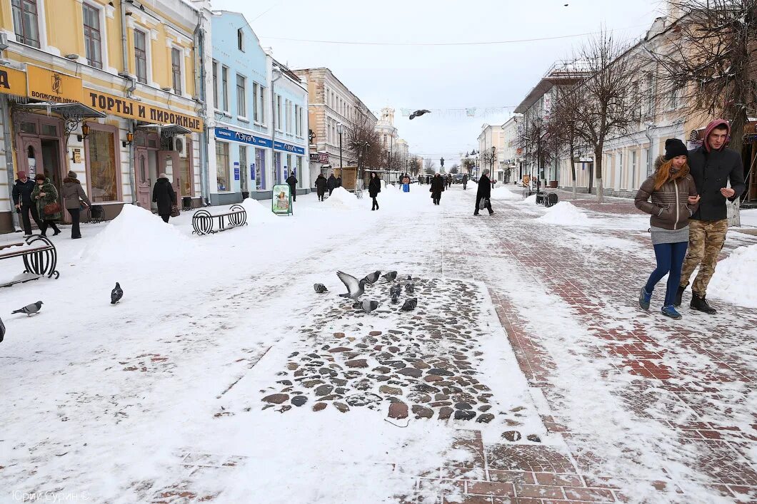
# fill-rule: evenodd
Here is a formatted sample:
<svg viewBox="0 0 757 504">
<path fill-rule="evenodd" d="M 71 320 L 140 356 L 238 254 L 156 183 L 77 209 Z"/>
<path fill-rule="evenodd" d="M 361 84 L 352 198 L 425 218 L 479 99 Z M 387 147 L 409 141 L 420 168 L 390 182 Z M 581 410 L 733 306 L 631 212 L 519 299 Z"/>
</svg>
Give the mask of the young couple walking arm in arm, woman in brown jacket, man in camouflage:
<svg viewBox="0 0 757 504">
<path fill-rule="evenodd" d="M 652 215 L 650 232 L 657 260 L 639 296 L 645 310 L 650 308 L 654 287 L 668 274 L 662 314 L 680 319 L 675 308 L 681 305 L 689 278 L 699 266 L 690 307 L 716 313 L 706 301 L 706 291 L 728 230 L 725 200 L 734 201 L 746 189 L 741 156 L 725 147 L 730 133 L 726 121 L 712 121 L 702 147 L 690 152 L 678 138 L 669 138 L 665 156 L 657 159 L 656 172 L 636 194 L 637 208 Z M 729 181 L 731 187 L 726 187 Z"/>
</svg>

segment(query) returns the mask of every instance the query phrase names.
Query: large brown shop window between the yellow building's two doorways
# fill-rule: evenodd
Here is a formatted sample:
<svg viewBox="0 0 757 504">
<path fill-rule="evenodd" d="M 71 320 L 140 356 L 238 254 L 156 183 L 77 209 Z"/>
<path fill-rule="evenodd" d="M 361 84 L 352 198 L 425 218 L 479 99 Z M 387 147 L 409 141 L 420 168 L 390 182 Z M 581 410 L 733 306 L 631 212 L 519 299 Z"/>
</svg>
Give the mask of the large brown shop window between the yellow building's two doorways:
<svg viewBox="0 0 757 504">
<path fill-rule="evenodd" d="M 89 181 L 92 201 L 118 201 L 118 173 L 115 134 L 92 128 L 89 131 Z"/>
</svg>

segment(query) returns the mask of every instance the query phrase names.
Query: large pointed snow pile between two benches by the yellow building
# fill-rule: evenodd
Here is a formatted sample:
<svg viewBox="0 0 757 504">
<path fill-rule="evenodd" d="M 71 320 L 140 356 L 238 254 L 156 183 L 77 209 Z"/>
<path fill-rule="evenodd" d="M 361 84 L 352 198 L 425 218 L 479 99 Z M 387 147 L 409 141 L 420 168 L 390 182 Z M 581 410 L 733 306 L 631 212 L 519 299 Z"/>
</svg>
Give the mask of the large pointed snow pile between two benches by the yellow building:
<svg viewBox="0 0 757 504">
<path fill-rule="evenodd" d="M 92 261 L 154 261 L 176 258 L 193 247 L 176 227 L 141 206 L 124 205 L 121 213 L 98 233 L 83 252 Z"/>
</svg>

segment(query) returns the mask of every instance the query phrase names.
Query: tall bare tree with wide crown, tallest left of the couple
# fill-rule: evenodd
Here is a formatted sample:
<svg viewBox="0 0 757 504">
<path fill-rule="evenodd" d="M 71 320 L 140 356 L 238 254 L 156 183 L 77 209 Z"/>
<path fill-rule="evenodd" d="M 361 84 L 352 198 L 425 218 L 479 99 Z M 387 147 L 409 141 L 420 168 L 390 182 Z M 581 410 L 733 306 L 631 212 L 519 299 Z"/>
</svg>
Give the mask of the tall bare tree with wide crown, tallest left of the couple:
<svg viewBox="0 0 757 504">
<path fill-rule="evenodd" d="M 623 135 L 639 124 L 637 79 L 642 65 L 631 48 L 604 31 L 578 50 L 583 70 L 578 131 L 593 148 L 597 201 L 604 201 L 603 150 L 609 135 Z"/>
</svg>

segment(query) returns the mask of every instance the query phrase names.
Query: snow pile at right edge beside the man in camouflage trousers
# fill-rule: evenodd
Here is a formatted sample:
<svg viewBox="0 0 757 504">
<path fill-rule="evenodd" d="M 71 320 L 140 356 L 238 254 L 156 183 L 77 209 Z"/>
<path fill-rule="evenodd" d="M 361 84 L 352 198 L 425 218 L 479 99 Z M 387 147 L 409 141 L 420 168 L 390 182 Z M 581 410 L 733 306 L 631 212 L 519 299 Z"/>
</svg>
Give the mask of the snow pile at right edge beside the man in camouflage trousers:
<svg viewBox="0 0 757 504">
<path fill-rule="evenodd" d="M 739 247 L 718 262 L 708 291 L 734 305 L 757 308 L 757 289 L 750 279 L 757 277 L 757 245 Z"/>
</svg>

